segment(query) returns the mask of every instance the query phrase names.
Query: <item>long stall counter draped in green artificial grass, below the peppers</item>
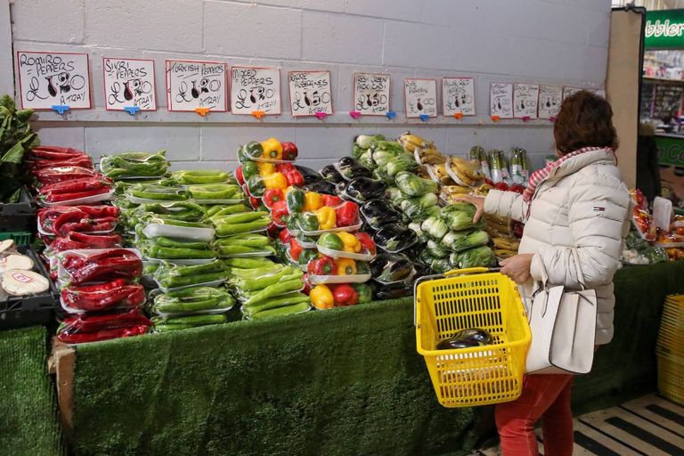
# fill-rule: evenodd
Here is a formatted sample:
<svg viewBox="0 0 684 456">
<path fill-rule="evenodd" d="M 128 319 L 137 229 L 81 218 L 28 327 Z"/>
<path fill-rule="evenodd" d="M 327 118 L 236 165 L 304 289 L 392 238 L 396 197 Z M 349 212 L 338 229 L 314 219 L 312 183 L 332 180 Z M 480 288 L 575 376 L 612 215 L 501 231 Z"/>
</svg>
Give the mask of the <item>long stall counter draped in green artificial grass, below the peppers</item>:
<svg viewBox="0 0 684 456">
<path fill-rule="evenodd" d="M 683 276 L 684 262 L 616 274 L 615 338 L 577 380 L 575 412 L 655 390 L 662 305 Z M 85 344 L 75 358 L 60 393 L 77 454 L 459 454 L 493 431 L 491 408 L 437 404 L 411 298 Z"/>
</svg>

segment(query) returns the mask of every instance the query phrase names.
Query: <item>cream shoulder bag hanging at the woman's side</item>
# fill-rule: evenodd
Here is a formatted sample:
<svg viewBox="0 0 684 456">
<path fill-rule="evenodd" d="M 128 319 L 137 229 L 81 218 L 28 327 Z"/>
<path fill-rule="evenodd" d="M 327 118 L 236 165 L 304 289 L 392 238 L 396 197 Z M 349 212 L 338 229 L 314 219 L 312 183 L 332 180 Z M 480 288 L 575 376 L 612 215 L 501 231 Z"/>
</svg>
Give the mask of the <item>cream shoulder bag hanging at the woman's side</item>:
<svg viewBox="0 0 684 456">
<path fill-rule="evenodd" d="M 579 291 L 563 285 L 549 286 L 542 271 L 542 282 L 529 305 L 527 318 L 532 330 L 532 344 L 527 352 L 528 374 L 586 374 L 594 361 L 596 338 L 596 291 L 586 289 L 577 253 L 574 263 L 580 280 Z"/>
</svg>

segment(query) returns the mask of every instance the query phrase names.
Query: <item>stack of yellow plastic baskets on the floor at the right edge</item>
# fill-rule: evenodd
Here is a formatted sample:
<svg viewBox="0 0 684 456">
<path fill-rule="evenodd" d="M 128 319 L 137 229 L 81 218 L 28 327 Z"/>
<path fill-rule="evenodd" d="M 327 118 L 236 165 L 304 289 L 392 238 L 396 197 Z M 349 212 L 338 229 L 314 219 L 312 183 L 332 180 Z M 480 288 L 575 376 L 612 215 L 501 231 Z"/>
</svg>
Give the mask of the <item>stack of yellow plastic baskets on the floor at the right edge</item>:
<svg viewBox="0 0 684 456">
<path fill-rule="evenodd" d="M 655 348 L 658 356 L 658 391 L 684 403 L 684 295 L 665 298 Z"/>
</svg>

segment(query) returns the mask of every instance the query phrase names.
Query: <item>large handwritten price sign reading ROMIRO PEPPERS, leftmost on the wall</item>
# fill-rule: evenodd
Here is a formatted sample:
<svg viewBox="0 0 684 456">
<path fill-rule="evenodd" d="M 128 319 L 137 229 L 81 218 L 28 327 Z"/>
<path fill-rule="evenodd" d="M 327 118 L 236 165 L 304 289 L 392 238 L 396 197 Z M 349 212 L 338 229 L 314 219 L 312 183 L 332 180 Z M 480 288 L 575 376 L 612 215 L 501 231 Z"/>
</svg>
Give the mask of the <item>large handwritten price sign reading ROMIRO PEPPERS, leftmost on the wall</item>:
<svg viewBox="0 0 684 456">
<path fill-rule="evenodd" d="M 85 53 L 17 53 L 21 107 L 90 108 L 90 69 Z"/>
</svg>

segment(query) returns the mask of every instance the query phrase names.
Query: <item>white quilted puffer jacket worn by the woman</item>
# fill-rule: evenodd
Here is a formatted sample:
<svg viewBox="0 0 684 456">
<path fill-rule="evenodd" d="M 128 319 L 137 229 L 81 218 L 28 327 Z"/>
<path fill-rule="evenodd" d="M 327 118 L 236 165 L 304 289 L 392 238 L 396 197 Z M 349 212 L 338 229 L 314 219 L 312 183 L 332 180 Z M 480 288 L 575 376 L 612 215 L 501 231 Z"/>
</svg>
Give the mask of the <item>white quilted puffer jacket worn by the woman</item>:
<svg viewBox="0 0 684 456">
<path fill-rule="evenodd" d="M 485 212 L 525 223 L 518 253 L 532 253 L 533 281 L 546 270 L 550 285 L 595 289 L 599 301 L 596 344 L 613 338 L 613 275 L 630 229 L 631 199 L 615 155 L 589 151 L 567 159 L 539 183 L 527 203 L 510 191 L 490 191 Z M 543 269 L 542 269 L 543 268 Z M 525 284 L 530 296 L 533 281 Z"/>
</svg>

